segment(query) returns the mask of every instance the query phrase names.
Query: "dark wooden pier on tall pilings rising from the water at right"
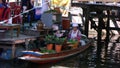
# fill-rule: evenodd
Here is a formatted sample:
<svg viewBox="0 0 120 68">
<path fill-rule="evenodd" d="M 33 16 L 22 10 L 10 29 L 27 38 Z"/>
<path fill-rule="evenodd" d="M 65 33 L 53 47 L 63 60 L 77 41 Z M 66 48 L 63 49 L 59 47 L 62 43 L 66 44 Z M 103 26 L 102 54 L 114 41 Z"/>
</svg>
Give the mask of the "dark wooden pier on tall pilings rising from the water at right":
<svg viewBox="0 0 120 68">
<path fill-rule="evenodd" d="M 88 36 L 89 32 L 89 23 L 91 21 L 91 25 L 94 25 L 94 29 L 97 31 L 97 50 L 98 52 L 101 52 L 101 41 L 102 41 L 102 30 L 106 30 L 106 47 L 108 42 L 110 41 L 110 31 L 116 30 L 119 32 L 120 28 L 116 26 L 115 18 L 118 18 L 117 16 L 113 15 L 111 13 L 112 10 L 118 10 L 120 9 L 120 6 L 116 5 L 105 5 L 105 4 L 97 4 L 97 3 L 72 3 L 72 6 L 81 7 L 83 9 L 83 15 L 85 17 L 85 31 L 84 34 Z M 104 11 L 106 13 L 104 13 Z M 97 24 L 95 24 L 94 18 L 97 18 Z M 104 21 L 103 19 L 106 18 L 107 20 Z M 113 23 L 115 24 L 115 27 L 110 27 L 110 20 L 114 20 Z M 96 26 L 95 26 L 96 25 Z M 92 27 L 92 26 L 91 26 Z"/>
</svg>

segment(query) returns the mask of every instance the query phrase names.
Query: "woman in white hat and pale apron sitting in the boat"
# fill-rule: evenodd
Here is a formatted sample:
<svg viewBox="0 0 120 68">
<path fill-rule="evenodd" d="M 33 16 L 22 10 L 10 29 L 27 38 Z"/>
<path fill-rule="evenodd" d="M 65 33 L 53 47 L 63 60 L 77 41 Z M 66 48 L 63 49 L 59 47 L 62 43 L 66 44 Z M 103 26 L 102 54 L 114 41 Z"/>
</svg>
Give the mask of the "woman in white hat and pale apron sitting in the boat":
<svg viewBox="0 0 120 68">
<path fill-rule="evenodd" d="M 81 32 L 78 29 L 78 24 L 74 23 L 74 24 L 72 24 L 72 27 L 73 27 L 72 30 L 70 30 L 70 32 L 68 34 L 68 38 L 78 40 L 80 42 Z"/>
</svg>

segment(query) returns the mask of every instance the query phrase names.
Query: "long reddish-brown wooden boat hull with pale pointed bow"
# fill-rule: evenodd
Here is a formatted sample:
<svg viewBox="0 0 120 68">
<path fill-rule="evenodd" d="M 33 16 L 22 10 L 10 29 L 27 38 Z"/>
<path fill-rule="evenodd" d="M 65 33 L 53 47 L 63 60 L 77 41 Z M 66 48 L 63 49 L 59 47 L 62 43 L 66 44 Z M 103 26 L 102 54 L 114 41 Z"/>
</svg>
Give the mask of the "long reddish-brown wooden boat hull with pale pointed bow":
<svg viewBox="0 0 120 68">
<path fill-rule="evenodd" d="M 80 46 L 80 47 L 73 48 L 70 50 L 65 50 L 65 51 L 63 50 L 63 51 L 58 52 L 58 53 L 37 54 L 37 55 L 28 54 L 28 55 L 23 55 L 22 57 L 18 57 L 18 59 L 31 61 L 31 62 L 35 62 L 35 63 L 40 63 L 40 64 L 41 63 L 57 62 L 57 61 L 60 61 L 62 59 L 65 59 L 67 57 L 81 53 L 81 52 L 85 51 L 87 48 L 89 48 L 91 45 L 92 45 L 92 41 L 88 42 L 84 46 Z"/>
</svg>

